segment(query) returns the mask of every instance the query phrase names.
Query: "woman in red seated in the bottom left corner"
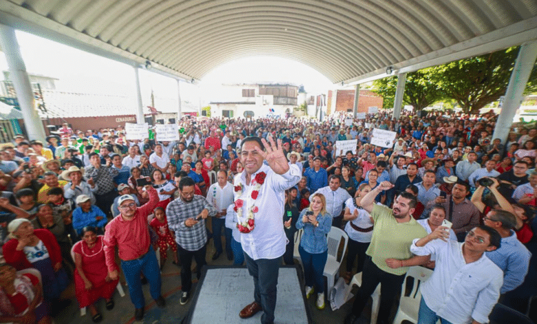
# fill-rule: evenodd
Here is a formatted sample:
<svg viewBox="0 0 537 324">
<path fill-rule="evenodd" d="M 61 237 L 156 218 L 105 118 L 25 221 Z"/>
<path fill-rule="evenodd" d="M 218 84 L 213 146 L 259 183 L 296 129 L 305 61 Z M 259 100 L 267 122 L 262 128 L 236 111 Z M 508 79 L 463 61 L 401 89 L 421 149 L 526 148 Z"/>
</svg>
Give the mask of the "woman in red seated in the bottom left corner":
<svg viewBox="0 0 537 324">
<path fill-rule="evenodd" d="M 33 274 L 17 274 L 7 263 L 0 264 L 0 322 L 52 323 L 43 303 L 43 288 Z"/>
</svg>

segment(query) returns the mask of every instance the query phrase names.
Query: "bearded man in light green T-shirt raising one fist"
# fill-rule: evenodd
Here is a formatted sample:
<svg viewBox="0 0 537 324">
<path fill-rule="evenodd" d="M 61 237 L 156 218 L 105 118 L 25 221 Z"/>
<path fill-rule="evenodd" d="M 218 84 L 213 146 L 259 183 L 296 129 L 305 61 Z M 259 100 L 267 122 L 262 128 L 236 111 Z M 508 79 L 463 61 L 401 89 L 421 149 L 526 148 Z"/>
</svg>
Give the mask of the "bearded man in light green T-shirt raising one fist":
<svg viewBox="0 0 537 324">
<path fill-rule="evenodd" d="M 369 296 L 381 283 L 381 301 L 377 323 L 388 324 L 388 316 L 408 270 L 407 259 L 410 259 L 410 245 L 413 239 L 421 239 L 427 235 L 425 229 L 412 218 L 416 207 L 416 197 L 408 192 L 401 192 L 394 201 L 393 210 L 375 204 L 375 197 L 383 190 L 390 190 L 394 185 L 383 181 L 364 198 L 361 206 L 375 221 L 371 243 L 366 252 L 368 259 L 364 263 L 361 275 L 361 287 L 358 290 L 352 312 L 347 316 L 346 324 L 357 324 Z M 421 259 L 423 260 L 421 260 Z M 412 265 L 425 263 L 430 256 L 414 256 Z M 397 267 L 391 264 L 401 263 Z"/>
</svg>

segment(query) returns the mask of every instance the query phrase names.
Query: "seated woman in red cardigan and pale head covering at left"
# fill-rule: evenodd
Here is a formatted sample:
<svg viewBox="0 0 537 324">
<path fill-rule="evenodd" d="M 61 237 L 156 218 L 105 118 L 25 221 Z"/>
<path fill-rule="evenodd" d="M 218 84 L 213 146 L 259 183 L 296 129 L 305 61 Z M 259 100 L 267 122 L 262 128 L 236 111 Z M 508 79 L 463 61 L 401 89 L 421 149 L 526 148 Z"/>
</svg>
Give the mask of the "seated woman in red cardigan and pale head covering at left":
<svg viewBox="0 0 537 324">
<path fill-rule="evenodd" d="M 6 262 L 17 270 L 34 267 L 41 272 L 43 296 L 50 312 L 61 292 L 69 285 L 62 268 L 60 245 L 49 230 L 34 230 L 28 219 L 15 219 L 8 225 L 12 239 L 3 245 Z"/>
</svg>

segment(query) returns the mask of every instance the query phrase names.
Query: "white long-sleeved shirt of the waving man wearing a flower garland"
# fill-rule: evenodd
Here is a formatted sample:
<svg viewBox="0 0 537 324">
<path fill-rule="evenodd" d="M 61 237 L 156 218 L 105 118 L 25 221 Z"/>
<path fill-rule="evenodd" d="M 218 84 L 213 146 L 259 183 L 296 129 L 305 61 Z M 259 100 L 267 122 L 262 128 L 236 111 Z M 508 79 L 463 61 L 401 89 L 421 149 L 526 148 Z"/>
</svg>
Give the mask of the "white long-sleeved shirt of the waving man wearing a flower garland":
<svg viewBox="0 0 537 324">
<path fill-rule="evenodd" d="M 287 237 L 284 232 L 285 194 L 284 191 L 296 185 L 302 174 L 296 165 L 291 165 L 288 172 L 276 174 L 268 165 L 262 165 L 252 175 L 260 172 L 266 173 L 264 184 L 261 186 L 257 199 L 253 199 L 251 194 L 255 189 L 254 185 L 246 185 L 246 171 L 235 176 L 234 185 L 242 184 L 242 195 L 235 194 L 235 201 L 242 199 L 242 215 L 237 215 L 238 219 L 246 221 L 250 208 L 255 204 L 259 207 L 259 212 L 255 213 L 255 227 L 249 233 L 240 234 L 242 250 L 253 260 L 257 259 L 277 259 L 285 253 Z"/>
</svg>

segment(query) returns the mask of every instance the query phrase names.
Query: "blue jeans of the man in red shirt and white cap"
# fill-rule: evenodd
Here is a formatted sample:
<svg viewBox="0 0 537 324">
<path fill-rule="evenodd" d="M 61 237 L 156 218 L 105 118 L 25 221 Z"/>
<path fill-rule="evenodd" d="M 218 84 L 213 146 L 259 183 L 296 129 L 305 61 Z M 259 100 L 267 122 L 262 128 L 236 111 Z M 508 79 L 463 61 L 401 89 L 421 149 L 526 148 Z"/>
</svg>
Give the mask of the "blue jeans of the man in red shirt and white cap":
<svg viewBox="0 0 537 324">
<path fill-rule="evenodd" d="M 149 245 L 149 251 L 138 259 L 130 261 L 121 261 L 121 269 L 125 274 L 125 280 L 129 286 L 129 295 L 131 302 L 136 308 L 145 307 L 144 294 L 142 292 L 142 282 L 140 281 L 140 273 L 143 272 L 145 278 L 149 282 L 149 291 L 151 297 L 157 299 L 160 297 L 160 267 L 156 259 L 155 250 Z"/>
</svg>

